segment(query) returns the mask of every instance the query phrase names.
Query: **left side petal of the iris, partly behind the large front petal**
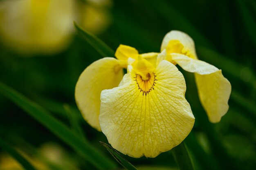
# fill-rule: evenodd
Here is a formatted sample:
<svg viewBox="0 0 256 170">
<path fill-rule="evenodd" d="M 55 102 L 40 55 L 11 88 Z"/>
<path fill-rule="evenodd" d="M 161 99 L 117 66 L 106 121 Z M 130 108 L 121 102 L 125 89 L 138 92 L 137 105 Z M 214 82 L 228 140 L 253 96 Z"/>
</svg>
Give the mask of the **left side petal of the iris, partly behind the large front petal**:
<svg viewBox="0 0 256 170">
<path fill-rule="evenodd" d="M 101 131 L 99 126 L 101 91 L 117 87 L 123 75 L 119 61 L 106 57 L 89 65 L 76 83 L 76 104 L 83 118 L 98 131 Z"/>
</svg>

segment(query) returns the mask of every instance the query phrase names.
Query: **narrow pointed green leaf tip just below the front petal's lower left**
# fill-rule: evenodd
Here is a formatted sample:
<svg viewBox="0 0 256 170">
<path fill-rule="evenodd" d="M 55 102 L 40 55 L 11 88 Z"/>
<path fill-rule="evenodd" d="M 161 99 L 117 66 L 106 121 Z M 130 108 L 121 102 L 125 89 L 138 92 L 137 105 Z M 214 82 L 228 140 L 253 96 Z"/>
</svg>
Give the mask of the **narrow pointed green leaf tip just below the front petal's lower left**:
<svg viewBox="0 0 256 170">
<path fill-rule="evenodd" d="M 108 144 L 105 144 L 103 142 L 100 142 L 105 148 L 108 149 L 108 151 L 111 153 L 111 155 L 127 170 L 137 170 L 130 162 L 128 162 L 122 155 L 120 155 L 117 150 L 109 146 Z"/>
</svg>

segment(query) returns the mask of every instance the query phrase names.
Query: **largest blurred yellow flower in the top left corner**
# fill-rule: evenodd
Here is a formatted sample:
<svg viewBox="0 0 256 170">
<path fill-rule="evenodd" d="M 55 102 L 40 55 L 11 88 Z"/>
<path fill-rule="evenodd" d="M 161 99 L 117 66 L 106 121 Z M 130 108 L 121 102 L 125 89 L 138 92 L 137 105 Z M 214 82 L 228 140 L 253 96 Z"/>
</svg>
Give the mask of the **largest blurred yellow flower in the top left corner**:
<svg viewBox="0 0 256 170">
<path fill-rule="evenodd" d="M 2 40 L 18 52 L 49 54 L 69 42 L 73 0 L 5 0 L 0 5 Z"/>
</svg>

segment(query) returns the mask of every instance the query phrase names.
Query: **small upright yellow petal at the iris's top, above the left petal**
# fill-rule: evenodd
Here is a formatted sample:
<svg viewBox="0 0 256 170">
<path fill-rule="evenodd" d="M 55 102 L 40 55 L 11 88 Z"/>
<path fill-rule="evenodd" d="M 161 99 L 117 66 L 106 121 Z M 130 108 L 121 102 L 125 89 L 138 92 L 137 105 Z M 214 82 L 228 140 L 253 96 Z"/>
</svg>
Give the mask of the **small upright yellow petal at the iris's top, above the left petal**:
<svg viewBox="0 0 256 170">
<path fill-rule="evenodd" d="M 119 60 L 127 60 L 129 57 L 137 59 L 139 52 L 130 46 L 120 44 L 115 52 L 115 57 Z"/>
</svg>

